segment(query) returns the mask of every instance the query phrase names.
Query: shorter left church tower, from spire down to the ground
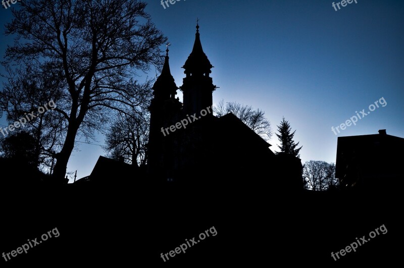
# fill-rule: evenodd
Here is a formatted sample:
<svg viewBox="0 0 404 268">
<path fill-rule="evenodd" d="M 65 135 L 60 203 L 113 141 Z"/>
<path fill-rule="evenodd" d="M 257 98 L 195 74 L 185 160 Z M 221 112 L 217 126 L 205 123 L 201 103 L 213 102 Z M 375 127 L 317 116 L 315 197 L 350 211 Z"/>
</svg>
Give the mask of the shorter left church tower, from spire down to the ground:
<svg viewBox="0 0 404 268">
<path fill-rule="evenodd" d="M 170 136 L 164 129 L 178 122 L 182 106 L 179 98 L 175 98 L 178 87 L 170 71 L 168 45 L 162 72 L 153 85 L 154 98 L 148 108 L 150 132 L 147 145 L 147 167 L 150 174 L 163 177 L 168 176 L 173 159 L 173 135 Z"/>
</svg>

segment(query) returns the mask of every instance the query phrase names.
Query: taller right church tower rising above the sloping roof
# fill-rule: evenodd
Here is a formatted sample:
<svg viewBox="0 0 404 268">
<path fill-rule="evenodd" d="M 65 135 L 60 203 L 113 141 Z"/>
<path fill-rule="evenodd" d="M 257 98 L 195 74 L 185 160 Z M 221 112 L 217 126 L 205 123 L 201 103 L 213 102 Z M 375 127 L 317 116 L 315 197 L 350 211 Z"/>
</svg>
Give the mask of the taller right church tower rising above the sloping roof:
<svg viewBox="0 0 404 268">
<path fill-rule="evenodd" d="M 213 85 L 212 78 L 209 77 L 213 66 L 202 49 L 198 24 L 196 24 L 192 52 L 182 68 L 186 75 L 183 79 L 183 85 L 180 87 L 184 96 L 183 113 L 187 115 L 196 113 L 196 115 L 199 115 L 200 111 L 212 106 L 212 92 L 216 89 L 216 86 Z"/>
</svg>

